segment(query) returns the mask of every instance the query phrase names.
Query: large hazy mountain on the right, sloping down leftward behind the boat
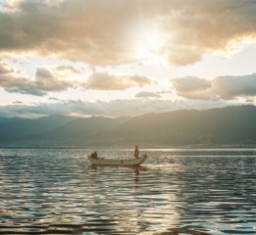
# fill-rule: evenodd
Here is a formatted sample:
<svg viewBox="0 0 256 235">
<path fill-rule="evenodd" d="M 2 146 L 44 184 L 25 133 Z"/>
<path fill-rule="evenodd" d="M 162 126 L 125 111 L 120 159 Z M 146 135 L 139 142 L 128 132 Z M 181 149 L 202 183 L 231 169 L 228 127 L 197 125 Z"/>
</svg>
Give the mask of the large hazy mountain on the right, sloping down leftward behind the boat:
<svg viewBox="0 0 256 235">
<path fill-rule="evenodd" d="M 255 120 L 254 106 L 148 114 L 132 118 L 91 142 L 144 146 L 252 144 L 256 143 Z"/>
</svg>

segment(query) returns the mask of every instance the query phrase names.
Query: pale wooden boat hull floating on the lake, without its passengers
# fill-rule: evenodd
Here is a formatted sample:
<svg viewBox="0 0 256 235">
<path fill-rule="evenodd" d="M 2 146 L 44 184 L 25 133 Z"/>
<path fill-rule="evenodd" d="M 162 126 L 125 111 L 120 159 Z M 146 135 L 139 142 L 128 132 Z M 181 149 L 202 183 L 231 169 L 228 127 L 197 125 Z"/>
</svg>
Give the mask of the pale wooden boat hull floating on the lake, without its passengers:
<svg viewBox="0 0 256 235">
<path fill-rule="evenodd" d="M 140 158 L 132 158 L 132 159 L 104 159 L 104 158 L 91 158 L 91 156 L 87 156 L 90 163 L 92 165 L 109 165 L 109 166 L 136 166 L 142 164 L 147 155 L 143 155 Z"/>
</svg>

